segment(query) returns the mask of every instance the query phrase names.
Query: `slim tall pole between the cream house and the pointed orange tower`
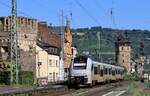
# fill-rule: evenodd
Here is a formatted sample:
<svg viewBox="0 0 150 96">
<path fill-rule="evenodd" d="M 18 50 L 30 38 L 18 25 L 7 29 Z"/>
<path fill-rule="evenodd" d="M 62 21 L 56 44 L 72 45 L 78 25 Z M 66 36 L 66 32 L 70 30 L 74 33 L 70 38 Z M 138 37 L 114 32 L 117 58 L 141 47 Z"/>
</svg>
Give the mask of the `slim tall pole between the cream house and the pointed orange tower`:
<svg viewBox="0 0 150 96">
<path fill-rule="evenodd" d="M 60 62 L 60 80 L 64 80 L 64 12 L 61 12 L 61 62 Z"/>
</svg>

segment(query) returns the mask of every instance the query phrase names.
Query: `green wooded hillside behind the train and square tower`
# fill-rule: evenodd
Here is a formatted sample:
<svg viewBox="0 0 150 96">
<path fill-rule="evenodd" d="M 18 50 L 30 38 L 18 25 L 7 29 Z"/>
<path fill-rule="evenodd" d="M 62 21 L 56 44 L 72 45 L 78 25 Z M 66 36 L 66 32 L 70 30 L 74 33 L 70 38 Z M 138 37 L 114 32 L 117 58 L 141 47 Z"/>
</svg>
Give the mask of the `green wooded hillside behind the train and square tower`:
<svg viewBox="0 0 150 96">
<path fill-rule="evenodd" d="M 139 54 L 141 40 L 144 41 L 145 54 L 150 54 L 150 41 L 146 39 L 150 37 L 150 31 L 148 30 L 117 30 L 101 27 L 72 29 L 73 44 L 77 46 L 79 54 L 86 52 L 96 58 L 96 52 L 115 52 L 115 41 L 117 40 L 117 36 L 119 34 L 124 34 L 125 31 L 132 44 L 132 57 L 136 57 L 137 54 Z M 99 37 L 100 40 L 98 39 Z M 114 60 L 114 57 L 115 55 L 111 54 L 110 58 Z M 107 60 L 104 60 L 104 62 L 105 61 Z"/>
</svg>

